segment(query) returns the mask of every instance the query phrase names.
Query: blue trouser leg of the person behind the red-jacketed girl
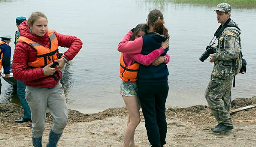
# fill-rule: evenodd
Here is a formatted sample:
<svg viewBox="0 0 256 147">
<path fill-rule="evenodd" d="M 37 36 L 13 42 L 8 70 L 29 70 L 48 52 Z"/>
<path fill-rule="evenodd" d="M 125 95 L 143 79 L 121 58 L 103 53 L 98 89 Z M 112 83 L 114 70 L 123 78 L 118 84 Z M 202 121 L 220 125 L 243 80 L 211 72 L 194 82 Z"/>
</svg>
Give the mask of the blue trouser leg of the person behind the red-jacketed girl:
<svg viewBox="0 0 256 147">
<path fill-rule="evenodd" d="M 24 109 L 23 118 L 30 119 L 31 112 L 30 112 L 30 107 L 25 99 L 25 88 L 26 88 L 26 85 L 24 85 L 22 81 L 17 81 L 17 95 L 20 99 L 21 106 Z"/>
</svg>

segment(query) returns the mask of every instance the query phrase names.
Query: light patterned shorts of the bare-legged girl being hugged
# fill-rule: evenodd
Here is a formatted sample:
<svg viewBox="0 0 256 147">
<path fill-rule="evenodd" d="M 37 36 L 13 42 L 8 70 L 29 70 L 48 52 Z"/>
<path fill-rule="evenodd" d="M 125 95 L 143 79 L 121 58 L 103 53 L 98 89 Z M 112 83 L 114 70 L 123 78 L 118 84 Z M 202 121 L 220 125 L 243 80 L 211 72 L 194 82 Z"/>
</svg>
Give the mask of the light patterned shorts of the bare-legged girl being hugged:
<svg viewBox="0 0 256 147">
<path fill-rule="evenodd" d="M 129 83 L 125 81 L 121 81 L 120 84 L 120 95 L 121 96 L 137 96 L 138 94 L 138 86 L 136 83 Z"/>
</svg>

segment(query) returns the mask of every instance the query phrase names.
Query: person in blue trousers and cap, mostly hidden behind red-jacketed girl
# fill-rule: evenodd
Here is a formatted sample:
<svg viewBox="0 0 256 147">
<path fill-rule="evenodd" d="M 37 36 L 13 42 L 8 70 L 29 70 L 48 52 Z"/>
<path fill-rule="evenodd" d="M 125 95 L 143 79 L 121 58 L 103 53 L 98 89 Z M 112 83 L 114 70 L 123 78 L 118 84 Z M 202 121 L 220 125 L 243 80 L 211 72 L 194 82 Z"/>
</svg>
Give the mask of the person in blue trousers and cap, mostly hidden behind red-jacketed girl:
<svg viewBox="0 0 256 147">
<path fill-rule="evenodd" d="M 22 23 L 25 20 L 26 20 L 26 17 L 23 17 L 23 16 L 17 17 L 16 18 L 17 28 L 20 25 L 20 23 Z M 15 38 L 15 41 L 14 41 L 15 45 L 19 42 L 18 41 L 19 37 L 20 37 L 20 32 L 19 32 L 19 30 L 17 30 L 15 32 L 15 37 L 14 37 Z M 29 105 L 28 105 L 28 103 L 25 99 L 25 88 L 26 88 L 26 85 L 22 81 L 17 80 L 17 95 L 20 99 L 21 106 L 23 107 L 23 110 L 24 110 L 23 117 L 20 118 L 20 119 L 14 120 L 17 123 L 31 122 L 30 107 L 29 107 Z"/>
</svg>

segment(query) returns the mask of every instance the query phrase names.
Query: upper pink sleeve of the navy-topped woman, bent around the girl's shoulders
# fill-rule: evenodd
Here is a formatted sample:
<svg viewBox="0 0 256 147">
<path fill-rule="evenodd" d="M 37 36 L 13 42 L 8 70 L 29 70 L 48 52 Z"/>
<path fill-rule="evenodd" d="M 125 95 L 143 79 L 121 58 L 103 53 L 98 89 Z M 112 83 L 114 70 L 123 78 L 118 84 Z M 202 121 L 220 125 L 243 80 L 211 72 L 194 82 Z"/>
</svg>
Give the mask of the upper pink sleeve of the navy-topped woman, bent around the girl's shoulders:
<svg viewBox="0 0 256 147">
<path fill-rule="evenodd" d="M 128 54 L 141 53 L 142 45 L 143 45 L 142 37 L 137 38 L 134 41 L 129 41 L 131 35 L 132 35 L 132 31 L 129 31 L 121 40 L 121 42 L 118 44 L 117 50 L 119 52 L 128 53 Z"/>
</svg>

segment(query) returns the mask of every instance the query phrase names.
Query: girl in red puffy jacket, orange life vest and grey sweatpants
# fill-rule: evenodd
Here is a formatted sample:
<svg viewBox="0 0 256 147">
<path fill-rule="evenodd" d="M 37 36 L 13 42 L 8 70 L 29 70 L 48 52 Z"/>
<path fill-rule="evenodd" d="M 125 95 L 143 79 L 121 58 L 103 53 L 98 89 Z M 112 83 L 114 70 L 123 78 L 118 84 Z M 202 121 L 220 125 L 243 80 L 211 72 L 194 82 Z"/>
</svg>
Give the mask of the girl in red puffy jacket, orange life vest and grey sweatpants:
<svg viewBox="0 0 256 147">
<path fill-rule="evenodd" d="M 56 147 L 68 122 L 60 69 L 79 52 L 82 41 L 75 36 L 48 30 L 48 20 L 42 12 L 33 12 L 19 25 L 19 32 L 21 36 L 13 55 L 13 75 L 26 85 L 26 100 L 33 121 L 33 146 L 42 147 L 48 108 L 54 124 L 46 147 Z M 68 48 L 63 57 L 58 55 L 59 46 Z"/>
</svg>

